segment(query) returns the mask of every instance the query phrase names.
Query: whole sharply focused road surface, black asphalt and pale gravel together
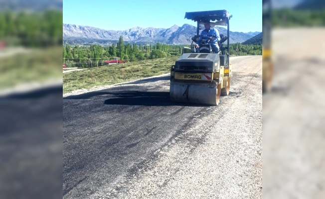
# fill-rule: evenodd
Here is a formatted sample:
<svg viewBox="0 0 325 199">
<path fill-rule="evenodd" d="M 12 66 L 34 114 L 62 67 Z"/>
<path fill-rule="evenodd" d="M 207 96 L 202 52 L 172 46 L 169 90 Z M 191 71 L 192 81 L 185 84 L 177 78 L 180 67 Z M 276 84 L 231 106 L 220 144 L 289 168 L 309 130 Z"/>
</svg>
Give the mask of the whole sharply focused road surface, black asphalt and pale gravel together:
<svg viewBox="0 0 325 199">
<path fill-rule="evenodd" d="M 262 56 L 231 62 L 218 106 L 169 76 L 63 98 L 63 198 L 262 198 Z"/>
</svg>

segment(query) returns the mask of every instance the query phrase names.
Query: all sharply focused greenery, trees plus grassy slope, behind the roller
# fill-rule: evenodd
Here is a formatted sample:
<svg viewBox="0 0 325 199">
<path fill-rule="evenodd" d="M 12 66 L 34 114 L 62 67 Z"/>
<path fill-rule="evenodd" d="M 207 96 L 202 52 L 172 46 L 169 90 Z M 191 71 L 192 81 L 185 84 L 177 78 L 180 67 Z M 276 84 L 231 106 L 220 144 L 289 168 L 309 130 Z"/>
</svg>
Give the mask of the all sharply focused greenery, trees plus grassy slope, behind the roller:
<svg viewBox="0 0 325 199">
<path fill-rule="evenodd" d="M 182 48 L 190 45 L 125 44 L 120 37 L 117 45 L 63 46 L 63 62 L 67 67 L 84 68 L 63 74 L 63 93 L 96 86 L 113 85 L 131 80 L 162 75 L 181 55 Z M 261 45 L 230 44 L 230 55 L 262 55 Z M 124 64 L 104 65 L 104 61 L 118 57 Z"/>
</svg>

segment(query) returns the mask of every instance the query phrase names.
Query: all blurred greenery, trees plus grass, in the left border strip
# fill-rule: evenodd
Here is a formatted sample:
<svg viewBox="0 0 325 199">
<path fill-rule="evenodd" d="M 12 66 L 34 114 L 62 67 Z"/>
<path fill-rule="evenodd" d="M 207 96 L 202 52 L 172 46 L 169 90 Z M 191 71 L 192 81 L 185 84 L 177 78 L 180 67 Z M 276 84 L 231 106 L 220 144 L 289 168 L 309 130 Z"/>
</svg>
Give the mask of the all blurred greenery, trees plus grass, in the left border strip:
<svg viewBox="0 0 325 199">
<path fill-rule="evenodd" d="M 62 11 L 0 12 L 0 90 L 62 77 Z"/>
</svg>

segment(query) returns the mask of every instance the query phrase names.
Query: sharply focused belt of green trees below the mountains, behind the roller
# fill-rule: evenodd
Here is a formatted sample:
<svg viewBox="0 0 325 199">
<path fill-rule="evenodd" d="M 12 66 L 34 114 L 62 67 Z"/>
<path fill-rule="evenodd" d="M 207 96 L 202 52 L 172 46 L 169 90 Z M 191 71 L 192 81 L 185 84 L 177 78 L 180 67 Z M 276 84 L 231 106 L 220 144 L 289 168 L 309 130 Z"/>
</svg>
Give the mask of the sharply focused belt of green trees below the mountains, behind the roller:
<svg viewBox="0 0 325 199">
<path fill-rule="evenodd" d="M 137 45 L 136 43 L 125 44 L 123 37 L 115 45 L 103 47 L 97 44 L 90 46 L 63 46 L 63 62 L 68 67 L 97 67 L 103 66 L 104 61 L 118 57 L 119 60 L 134 62 L 138 60 L 156 59 L 169 56 L 180 56 L 183 47 L 190 45 L 167 45 L 157 43 Z M 230 44 L 230 55 L 236 54 L 236 48 L 239 49 L 238 55 L 262 55 L 261 45 L 242 45 L 240 43 Z"/>
</svg>

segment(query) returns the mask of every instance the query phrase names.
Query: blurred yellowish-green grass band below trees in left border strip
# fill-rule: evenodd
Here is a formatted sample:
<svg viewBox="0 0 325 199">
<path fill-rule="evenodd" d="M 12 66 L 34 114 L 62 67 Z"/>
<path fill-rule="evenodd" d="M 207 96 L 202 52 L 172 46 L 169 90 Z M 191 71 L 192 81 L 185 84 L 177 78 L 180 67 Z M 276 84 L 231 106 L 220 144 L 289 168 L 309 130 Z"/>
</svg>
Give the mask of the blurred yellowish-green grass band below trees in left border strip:
<svg viewBox="0 0 325 199">
<path fill-rule="evenodd" d="M 0 90 L 62 77 L 62 47 L 29 49 L 0 58 Z"/>
</svg>

